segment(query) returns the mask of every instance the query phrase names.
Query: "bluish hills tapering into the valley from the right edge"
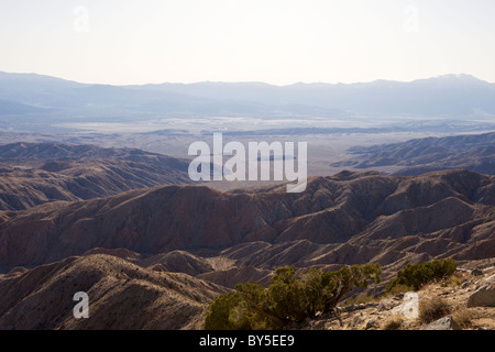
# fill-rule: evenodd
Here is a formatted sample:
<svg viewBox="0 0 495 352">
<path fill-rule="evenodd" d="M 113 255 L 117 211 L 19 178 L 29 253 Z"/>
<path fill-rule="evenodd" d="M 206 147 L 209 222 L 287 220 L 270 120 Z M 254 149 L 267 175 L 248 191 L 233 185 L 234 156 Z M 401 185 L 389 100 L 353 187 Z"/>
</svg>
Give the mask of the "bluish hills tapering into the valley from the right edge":
<svg viewBox="0 0 495 352">
<path fill-rule="evenodd" d="M 361 169 L 402 166 L 394 175 L 404 176 L 454 168 L 495 175 L 495 132 L 354 146 L 350 152 L 355 156 L 331 166 Z"/>
</svg>

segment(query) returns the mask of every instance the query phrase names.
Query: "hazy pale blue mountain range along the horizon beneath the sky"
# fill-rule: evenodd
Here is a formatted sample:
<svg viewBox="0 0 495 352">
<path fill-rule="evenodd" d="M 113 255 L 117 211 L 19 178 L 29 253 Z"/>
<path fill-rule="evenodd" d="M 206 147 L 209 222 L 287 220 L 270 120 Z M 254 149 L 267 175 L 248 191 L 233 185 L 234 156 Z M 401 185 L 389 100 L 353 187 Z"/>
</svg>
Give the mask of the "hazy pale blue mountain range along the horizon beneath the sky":
<svg viewBox="0 0 495 352">
<path fill-rule="evenodd" d="M 495 85 L 469 75 L 410 82 L 88 85 L 0 73 L 0 116 L 495 116 Z"/>
</svg>

